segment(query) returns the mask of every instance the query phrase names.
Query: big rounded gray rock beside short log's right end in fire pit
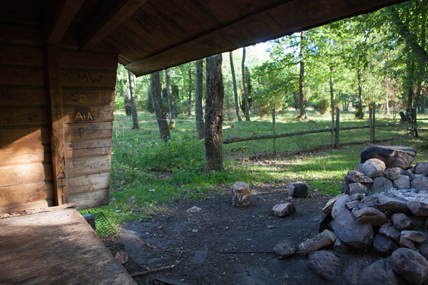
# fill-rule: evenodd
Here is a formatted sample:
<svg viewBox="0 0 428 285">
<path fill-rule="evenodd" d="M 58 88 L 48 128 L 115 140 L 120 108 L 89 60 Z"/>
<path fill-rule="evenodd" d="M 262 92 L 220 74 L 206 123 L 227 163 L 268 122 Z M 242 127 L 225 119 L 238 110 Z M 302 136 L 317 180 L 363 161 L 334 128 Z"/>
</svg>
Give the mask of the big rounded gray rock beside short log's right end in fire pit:
<svg viewBox="0 0 428 285">
<path fill-rule="evenodd" d="M 337 203 L 337 202 L 336 202 Z M 336 205 L 335 205 L 336 206 Z M 338 217 L 333 220 L 332 228 L 337 237 L 357 249 L 367 249 L 373 242 L 374 232 L 371 224 L 358 222 L 345 204 L 337 210 Z"/>
</svg>

